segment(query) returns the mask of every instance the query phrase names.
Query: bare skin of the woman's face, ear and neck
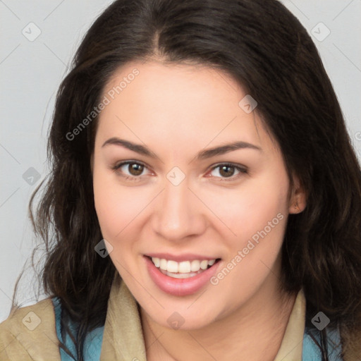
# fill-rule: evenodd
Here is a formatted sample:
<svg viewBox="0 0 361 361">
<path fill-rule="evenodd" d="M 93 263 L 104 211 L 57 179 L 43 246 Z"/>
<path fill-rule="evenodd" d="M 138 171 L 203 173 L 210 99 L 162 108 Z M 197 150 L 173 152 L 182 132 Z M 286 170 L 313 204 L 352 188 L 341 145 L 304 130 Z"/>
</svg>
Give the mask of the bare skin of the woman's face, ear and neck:
<svg viewBox="0 0 361 361">
<path fill-rule="evenodd" d="M 99 116 L 92 171 L 109 256 L 141 307 L 147 360 L 274 360 L 295 301 L 279 289 L 279 276 L 288 214 L 305 208 L 298 179 L 290 190 L 279 146 L 256 111 L 238 106 L 246 93 L 229 75 L 152 59 L 118 69 L 104 94 L 134 68 L 140 74 Z M 111 137 L 146 145 L 157 158 L 102 147 Z M 261 150 L 195 159 L 201 150 L 240 140 Z M 127 160 L 145 164 L 141 176 L 127 165 L 110 169 Z M 214 169 L 226 162 L 247 173 L 231 168 L 227 178 Z M 166 178 L 174 166 L 185 175 L 179 185 Z M 177 297 L 147 272 L 149 252 L 221 258 L 221 270 L 280 213 L 279 224 L 216 286 Z M 175 311 L 185 320 L 180 329 L 167 322 Z"/>
</svg>

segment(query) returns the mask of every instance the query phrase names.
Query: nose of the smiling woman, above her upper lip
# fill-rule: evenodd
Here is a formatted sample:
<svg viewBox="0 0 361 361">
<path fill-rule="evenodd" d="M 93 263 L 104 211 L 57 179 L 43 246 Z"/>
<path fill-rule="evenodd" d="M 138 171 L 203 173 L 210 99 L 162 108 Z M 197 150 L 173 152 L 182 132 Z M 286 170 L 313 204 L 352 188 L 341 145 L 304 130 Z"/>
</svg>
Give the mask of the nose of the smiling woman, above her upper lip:
<svg viewBox="0 0 361 361">
<path fill-rule="evenodd" d="M 153 230 L 173 242 L 202 234 L 207 228 L 204 205 L 188 188 L 187 178 L 173 185 L 165 181 L 153 214 Z"/>
</svg>

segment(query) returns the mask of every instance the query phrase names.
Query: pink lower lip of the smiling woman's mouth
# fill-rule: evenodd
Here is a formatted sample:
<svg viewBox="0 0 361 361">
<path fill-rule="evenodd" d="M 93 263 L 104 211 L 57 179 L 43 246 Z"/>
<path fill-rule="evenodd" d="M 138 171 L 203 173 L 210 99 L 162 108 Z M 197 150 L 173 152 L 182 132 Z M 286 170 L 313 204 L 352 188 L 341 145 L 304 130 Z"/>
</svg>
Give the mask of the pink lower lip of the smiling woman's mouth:
<svg viewBox="0 0 361 361">
<path fill-rule="evenodd" d="M 162 274 L 161 271 L 154 266 L 151 259 L 146 256 L 144 257 L 149 275 L 154 283 L 165 293 L 175 296 L 186 296 L 196 293 L 209 282 L 209 279 L 214 276 L 214 274 L 216 274 L 216 270 L 220 263 L 220 261 L 218 261 L 214 263 L 212 267 L 209 267 L 209 269 L 204 270 L 196 276 L 189 277 L 188 279 L 174 279 L 173 277 L 166 276 L 166 274 Z"/>
</svg>

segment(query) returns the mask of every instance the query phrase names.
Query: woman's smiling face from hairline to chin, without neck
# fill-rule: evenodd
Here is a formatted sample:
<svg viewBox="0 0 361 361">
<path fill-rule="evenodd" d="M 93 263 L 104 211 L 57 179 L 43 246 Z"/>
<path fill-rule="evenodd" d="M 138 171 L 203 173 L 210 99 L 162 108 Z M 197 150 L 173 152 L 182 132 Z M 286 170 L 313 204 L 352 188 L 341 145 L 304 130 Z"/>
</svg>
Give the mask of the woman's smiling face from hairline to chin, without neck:
<svg viewBox="0 0 361 361">
<path fill-rule="evenodd" d="M 148 61 L 121 68 L 103 97 L 95 207 L 143 310 L 195 329 L 275 289 L 293 208 L 279 147 L 247 94 L 221 71 Z"/>
</svg>

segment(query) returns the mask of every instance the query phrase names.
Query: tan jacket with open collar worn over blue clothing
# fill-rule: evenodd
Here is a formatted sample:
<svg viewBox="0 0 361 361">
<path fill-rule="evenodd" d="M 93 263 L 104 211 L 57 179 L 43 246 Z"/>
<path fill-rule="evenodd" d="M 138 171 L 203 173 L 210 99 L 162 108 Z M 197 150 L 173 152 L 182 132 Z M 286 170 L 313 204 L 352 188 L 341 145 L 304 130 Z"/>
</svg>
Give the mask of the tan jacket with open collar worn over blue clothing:
<svg viewBox="0 0 361 361">
<path fill-rule="evenodd" d="M 274 361 L 302 360 L 304 325 L 305 296 L 301 290 Z M 355 337 L 354 344 L 345 350 L 345 361 L 361 360 L 360 340 L 360 335 Z M 13 310 L 8 319 L 0 324 L 0 360 L 61 361 L 54 307 L 50 298 Z M 137 303 L 118 273 L 109 295 L 100 360 L 146 361 Z"/>
</svg>

